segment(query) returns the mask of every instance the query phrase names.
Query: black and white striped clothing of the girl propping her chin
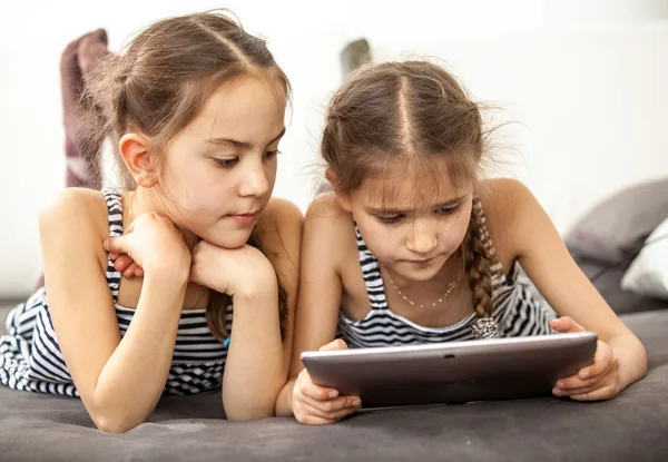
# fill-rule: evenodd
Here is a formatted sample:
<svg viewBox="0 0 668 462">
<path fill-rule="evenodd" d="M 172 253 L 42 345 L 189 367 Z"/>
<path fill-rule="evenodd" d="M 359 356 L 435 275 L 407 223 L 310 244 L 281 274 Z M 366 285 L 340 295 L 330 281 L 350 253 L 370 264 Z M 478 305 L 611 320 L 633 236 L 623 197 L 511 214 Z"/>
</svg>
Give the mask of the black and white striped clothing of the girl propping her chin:
<svg viewBox="0 0 668 462">
<path fill-rule="evenodd" d="M 120 196 L 112 189 L 102 193 L 109 213 L 109 236 L 119 236 L 122 234 Z M 118 304 L 120 273 L 110 259 L 106 277 L 122 337 L 135 309 Z M 232 314 L 230 305 L 228 332 L 232 332 Z M 0 383 L 16 390 L 79 395 L 60 353 L 43 288 L 9 312 L 7 330 L 9 335 L 0 337 Z M 227 348 L 207 327 L 205 311 L 183 311 L 165 393 L 195 394 L 219 387 L 226 357 Z"/>
</svg>

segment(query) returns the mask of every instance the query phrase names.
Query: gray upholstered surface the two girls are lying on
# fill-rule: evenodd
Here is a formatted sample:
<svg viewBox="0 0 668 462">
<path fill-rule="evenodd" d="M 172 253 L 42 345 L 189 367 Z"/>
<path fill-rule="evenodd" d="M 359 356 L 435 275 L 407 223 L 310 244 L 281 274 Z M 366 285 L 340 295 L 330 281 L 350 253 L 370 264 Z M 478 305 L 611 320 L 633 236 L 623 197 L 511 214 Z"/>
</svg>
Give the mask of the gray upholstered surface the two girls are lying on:
<svg viewBox="0 0 668 462">
<path fill-rule="evenodd" d="M 293 419 L 233 423 L 220 395 L 166 396 L 124 435 L 95 430 L 79 400 L 0 387 L 8 461 L 665 461 L 668 311 L 622 317 L 649 352 L 647 377 L 617 399 L 546 397 L 372 410 L 324 427 Z"/>
</svg>

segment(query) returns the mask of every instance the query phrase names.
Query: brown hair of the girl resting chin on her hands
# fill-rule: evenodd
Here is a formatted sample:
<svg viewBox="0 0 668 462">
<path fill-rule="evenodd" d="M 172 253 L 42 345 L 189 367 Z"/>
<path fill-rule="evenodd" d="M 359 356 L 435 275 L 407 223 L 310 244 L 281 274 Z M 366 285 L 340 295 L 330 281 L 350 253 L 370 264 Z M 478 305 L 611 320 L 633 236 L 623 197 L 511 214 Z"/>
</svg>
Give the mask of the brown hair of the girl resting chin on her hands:
<svg viewBox="0 0 668 462">
<path fill-rule="evenodd" d="M 125 53 L 109 55 L 100 61 L 84 98 L 100 108 L 102 116 L 95 122 L 102 125 L 99 129 L 114 146 L 127 131 L 139 130 L 150 139 L 149 150 L 155 155 L 199 114 L 220 85 L 244 76 L 267 79 L 277 88 L 277 98 L 289 99 L 287 77 L 264 40 L 223 12 L 193 13 L 148 26 L 130 41 Z M 137 185 L 122 168 L 120 154 L 115 154 L 122 186 L 135 189 Z M 256 236 L 252 235 L 248 244 L 262 250 Z M 284 335 L 287 308 L 282 284 L 278 293 Z M 212 291 L 206 318 L 218 338 L 228 335 L 225 316 L 229 302 L 227 295 Z"/>
</svg>

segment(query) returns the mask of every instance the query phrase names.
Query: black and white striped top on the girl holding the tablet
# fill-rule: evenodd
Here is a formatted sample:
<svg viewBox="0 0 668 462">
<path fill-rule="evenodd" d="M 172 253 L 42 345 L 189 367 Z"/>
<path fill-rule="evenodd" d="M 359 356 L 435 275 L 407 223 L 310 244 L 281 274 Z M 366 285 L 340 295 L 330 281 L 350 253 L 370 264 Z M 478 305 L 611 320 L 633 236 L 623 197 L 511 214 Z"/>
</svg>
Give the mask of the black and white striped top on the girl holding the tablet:
<svg viewBox="0 0 668 462">
<path fill-rule="evenodd" d="M 355 225 L 360 265 L 366 284 L 371 311 L 360 321 L 350 320 L 343 311 L 338 313 L 337 338 L 343 338 L 351 348 L 391 345 L 414 345 L 473 340 L 471 325 L 477 320 L 471 314 L 448 327 L 424 327 L 394 314 L 385 298 L 385 287 L 377 259 L 366 247 Z M 490 242 L 491 243 L 491 242 Z M 548 324 L 557 317 L 554 311 L 540 297 L 528 281 L 520 277 L 515 262 L 508 275 L 501 274 L 500 264 L 492 268 L 493 317 L 499 323 L 502 337 L 543 335 L 552 333 Z"/>
</svg>

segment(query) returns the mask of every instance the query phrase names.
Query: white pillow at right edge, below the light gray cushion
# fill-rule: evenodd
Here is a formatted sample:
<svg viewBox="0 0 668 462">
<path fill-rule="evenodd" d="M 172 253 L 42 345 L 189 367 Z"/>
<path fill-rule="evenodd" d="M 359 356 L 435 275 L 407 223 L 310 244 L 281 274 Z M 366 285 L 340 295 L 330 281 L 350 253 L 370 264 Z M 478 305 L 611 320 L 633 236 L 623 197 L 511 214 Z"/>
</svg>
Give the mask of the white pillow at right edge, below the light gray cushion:
<svg viewBox="0 0 668 462">
<path fill-rule="evenodd" d="M 668 218 L 649 235 L 621 278 L 621 288 L 668 299 Z"/>
</svg>

